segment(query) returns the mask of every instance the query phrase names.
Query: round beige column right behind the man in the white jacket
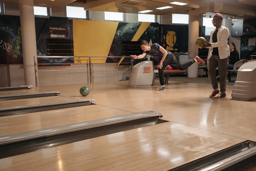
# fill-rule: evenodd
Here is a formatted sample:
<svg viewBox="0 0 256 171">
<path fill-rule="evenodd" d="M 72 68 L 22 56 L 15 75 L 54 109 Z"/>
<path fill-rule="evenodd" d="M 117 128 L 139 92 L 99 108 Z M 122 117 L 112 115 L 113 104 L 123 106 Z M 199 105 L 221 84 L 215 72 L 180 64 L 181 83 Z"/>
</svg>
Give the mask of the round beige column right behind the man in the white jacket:
<svg viewBox="0 0 256 171">
<path fill-rule="evenodd" d="M 199 36 L 199 17 L 189 16 L 188 23 L 188 60 L 192 60 L 198 55 L 198 47 L 195 44 Z M 198 76 L 198 63 L 188 67 L 188 77 L 195 78 Z"/>
</svg>

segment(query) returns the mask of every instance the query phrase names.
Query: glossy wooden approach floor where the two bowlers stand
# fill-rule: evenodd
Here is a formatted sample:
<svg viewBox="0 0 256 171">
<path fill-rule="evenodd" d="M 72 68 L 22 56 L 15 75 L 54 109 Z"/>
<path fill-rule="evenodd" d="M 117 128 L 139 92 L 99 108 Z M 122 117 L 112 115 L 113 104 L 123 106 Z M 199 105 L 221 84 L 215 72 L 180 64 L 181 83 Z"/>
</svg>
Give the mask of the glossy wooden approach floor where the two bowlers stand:
<svg viewBox="0 0 256 171">
<path fill-rule="evenodd" d="M 206 77 L 206 79 L 208 79 Z M 95 83 L 90 86 L 89 98 L 97 104 L 129 112 L 156 111 L 163 119 L 211 131 L 256 141 L 256 101 L 230 100 L 233 86 L 226 87 L 226 98 L 209 98 L 210 84 L 171 82 L 166 90 L 156 91 L 154 86 L 130 88 L 128 81 Z M 63 95 L 79 98 L 82 84 L 59 86 Z M 56 89 L 54 86 L 39 90 Z"/>
</svg>

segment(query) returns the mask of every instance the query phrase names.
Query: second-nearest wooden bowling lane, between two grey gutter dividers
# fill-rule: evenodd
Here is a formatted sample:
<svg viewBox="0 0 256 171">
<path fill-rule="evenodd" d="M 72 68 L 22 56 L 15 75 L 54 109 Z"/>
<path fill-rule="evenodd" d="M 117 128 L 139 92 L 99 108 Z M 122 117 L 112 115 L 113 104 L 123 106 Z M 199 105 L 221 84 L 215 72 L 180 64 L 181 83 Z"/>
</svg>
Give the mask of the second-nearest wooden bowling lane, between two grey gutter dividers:
<svg viewBox="0 0 256 171">
<path fill-rule="evenodd" d="M 75 108 L 4 116 L 0 118 L 0 135 L 75 124 L 88 120 L 129 114 L 131 112 L 102 105 L 88 105 Z"/>
</svg>

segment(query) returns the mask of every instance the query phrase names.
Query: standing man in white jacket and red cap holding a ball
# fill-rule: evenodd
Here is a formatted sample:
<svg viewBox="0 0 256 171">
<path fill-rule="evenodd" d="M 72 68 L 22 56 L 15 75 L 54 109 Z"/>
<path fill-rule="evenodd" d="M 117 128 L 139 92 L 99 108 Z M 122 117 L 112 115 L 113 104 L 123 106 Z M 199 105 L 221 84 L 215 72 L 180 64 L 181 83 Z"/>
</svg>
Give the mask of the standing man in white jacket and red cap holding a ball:
<svg viewBox="0 0 256 171">
<path fill-rule="evenodd" d="M 216 29 L 211 31 L 210 42 L 206 42 L 202 47 L 209 48 L 208 52 L 208 77 L 213 87 L 213 92 L 209 97 L 219 94 L 216 79 L 216 68 L 218 67 L 221 94 L 218 98 L 226 97 L 226 79 L 228 72 L 229 30 L 221 25 L 223 16 L 219 13 L 213 16 L 212 24 Z"/>
</svg>

